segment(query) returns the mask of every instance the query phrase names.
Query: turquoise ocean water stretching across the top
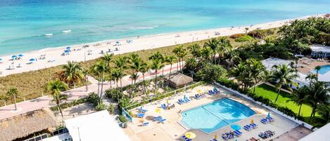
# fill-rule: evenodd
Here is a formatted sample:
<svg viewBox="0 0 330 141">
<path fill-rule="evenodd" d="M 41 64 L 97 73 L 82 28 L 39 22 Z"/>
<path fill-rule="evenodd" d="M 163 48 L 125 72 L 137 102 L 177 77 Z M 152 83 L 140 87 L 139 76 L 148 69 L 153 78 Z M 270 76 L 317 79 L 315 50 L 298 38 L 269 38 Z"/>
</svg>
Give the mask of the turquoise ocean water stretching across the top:
<svg viewBox="0 0 330 141">
<path fill-rule="evenodd" d="M 329 7 L 329 0 L 1 0 L 0 55 L 253 25 L 329 13 Z"/>
</svg>

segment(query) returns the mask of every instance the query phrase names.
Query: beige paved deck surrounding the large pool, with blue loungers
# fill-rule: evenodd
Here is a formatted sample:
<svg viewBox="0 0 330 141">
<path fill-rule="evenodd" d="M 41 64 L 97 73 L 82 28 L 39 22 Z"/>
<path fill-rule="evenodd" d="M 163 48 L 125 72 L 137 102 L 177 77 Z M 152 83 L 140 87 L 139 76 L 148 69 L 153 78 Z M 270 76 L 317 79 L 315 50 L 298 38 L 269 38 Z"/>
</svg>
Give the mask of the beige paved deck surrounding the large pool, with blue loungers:
<svg viewBox="0 0 330 141">
<path fill-rule="evenodd" d="M 193 88 L 192 90 L 186 90 L 182 93 L 178 93 L 177 95 L 174 95 L 171 98 L 169 98 L 170 103 L 175 103 L 175 107 L 169 110 L 163 110 L 160 108 L 160 104 L 165 104 L 167 99 L 158 102 L 152 102 L 149 103 L 148 105 L 144 105 L 144 109 L 148 110 L 144 118 L 133 118 L 133 122 L 128 123 L 127 128 L 124 128 L 123 130 L 130 137 L 132 141 L 179 140 L 179 137 L 181 137 L 182 135 L 184 135 L 184 133 L 189 131 L 196 133 L 196 138 L 194 138 L 193 140 L 208 141 L 208 140 L 212 140 L 212 138 L 215 137 L 215 135 L 217 135 L 218 140 L 223 140 L 221 138 L 221 134 L 231 130 L 230 126 L 225 126 L 223 128 L 216 130 L 213 133 L 206 134 L 203 133 L 201 130 L 188 130 L 179 123 L 179 121 L 181 121 L 182 119 L 179 112 L 182 112 L 187 109 L 191 109 L 193 107 L 205 105 L 209 102 L 213 102 L 214 100 L 218 100 L 220 98 L 230 98 L 231 100 L 236 100 L 238 102 L 241 102 L 243 105 L 250 107 L 250 109 L 253 109 L 253 111 L 256 112 L 256 114 L 254 114 L 253 116 L 250 116 L 246 119 L 242 119 L 241 121 L 236 122 L 236 124 L 240 126 L 244 126 L 250 123 L 251 119 L 253 119 L 254 122 L 258 124 L 258 128 L 250 131 L 246 131 L 242 129 L 241 132 L 243 133 L 243 135 L 241 135 L 238 138 L 234 138 L 232 140 L 235 139 L 248 140 L 250 139 L 250 137 L 255 137 L 258 139 L 260 138 L 258 137 L 258 134 L 260 132 L 265 130 L 272 130 L 275 132 L 275 135 L 273 137 L 269 137 L 268 139 L 266 139 L 266 140 L 271 140 L 298 126 L 298 124 L 294 123 L 293 121 L 290 121 L 289 119 L 286 119 L 283 116 L 279 116 L 272 112 L 270 112 L 270 114 L 275 119 L 274 122 L 268 124 L 260 123 L 260 119 L 265 118 L 267 116 L 269 112 L 267 109 L 261 107 L 260 105 L 256 105 L 255 103 L 250 102 L 244 98 L 238 97 L 222 88 L 217 88 L 218 90 L 220 90 L 220 94 L 218 95 L 207 95 L 205 98 L 202 98 L 201 100 L 193 99 L 191 102 L 186 103 L 184 105 L 177 104 L 177 100 L 179 98 L 183 98 L 184 95 L 191 97 L 196 93 L 197 90 L 202 90 L 203 93 L 207 93 L 208 90 L 211 90 L 213 88 L 214 88 L 213 85 L 198 86 L 196 88 Z M 160 114 L 155 112 L 156 108 L 161 109 Z M 131 111 L 134 114 L 137 113 L 137 109 L 132 109 Z M 155 121 L 152 121 L 153 116 L 163 116 L 163 118 L 167 119 L 167 121 L 165 121 L 165 123 L 157 123 Z M 143 122 L 149 122 L 148 126 L 141 126 L 141 123 Z"/>
</svg>

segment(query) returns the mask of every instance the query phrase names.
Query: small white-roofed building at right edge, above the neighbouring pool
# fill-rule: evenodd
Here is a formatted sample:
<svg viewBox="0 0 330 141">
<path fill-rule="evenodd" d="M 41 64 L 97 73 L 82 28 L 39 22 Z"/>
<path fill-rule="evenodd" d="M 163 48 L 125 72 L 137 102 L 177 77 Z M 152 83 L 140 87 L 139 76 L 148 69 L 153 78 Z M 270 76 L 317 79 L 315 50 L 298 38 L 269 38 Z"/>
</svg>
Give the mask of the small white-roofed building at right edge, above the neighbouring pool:
<svg viewBox="0 0 330 141">
<path fill-rule="evenodd" d="M 312 44 L 310 49 L 312 50 L 311 56 L 313 58 L 330 58 L 330 46 Z"/>
</svg>

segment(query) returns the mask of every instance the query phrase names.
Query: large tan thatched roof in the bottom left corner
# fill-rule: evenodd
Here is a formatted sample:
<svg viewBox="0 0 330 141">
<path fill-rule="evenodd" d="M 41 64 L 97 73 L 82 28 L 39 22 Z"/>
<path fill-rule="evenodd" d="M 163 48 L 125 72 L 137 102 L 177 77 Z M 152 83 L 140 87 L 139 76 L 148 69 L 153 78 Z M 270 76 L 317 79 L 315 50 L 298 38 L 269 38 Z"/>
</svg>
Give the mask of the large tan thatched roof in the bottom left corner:
<svg viewBox="0 0 330 141">
<path fill-rule="evenodd" d="M 38 109 L 0 121 L 0 141 L 10 141 L 57 126 L 50 109 Z"/>
</svg>

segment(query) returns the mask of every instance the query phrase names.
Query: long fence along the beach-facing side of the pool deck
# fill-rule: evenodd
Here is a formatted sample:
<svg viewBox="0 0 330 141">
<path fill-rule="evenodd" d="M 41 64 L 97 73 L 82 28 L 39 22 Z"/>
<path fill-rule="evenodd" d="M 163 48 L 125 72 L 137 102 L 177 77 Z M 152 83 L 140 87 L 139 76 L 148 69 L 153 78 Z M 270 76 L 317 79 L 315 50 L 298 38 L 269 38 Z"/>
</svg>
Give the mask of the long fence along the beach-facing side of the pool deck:
<svg viewBox="0 0 330 141">
<path fill-rule="evenodd" d="M 147 99 L 147 100 L 143 100 L 143 101 L 141 101 L 141 102 L 134 103 L 133 105 L 129 105 L 129 106 L 127 106 L 127 107 L 122 108 L 122 115 L 126 116 L 127 119 L 129 119 L 129 121 L 132 121 L 132 116 L 130 116 L 129 113 L 127 112 L 129 109 L 134 109 L 134 108 L 139 107 L 139 106 L 141 106 L 141 105 L 146 105 L 146 104 L 148 104 L 148 103 L 151 103 L 151 102 L 154 102 L 154 101 L 157 101 L 157 100 L 163 100 L 163 98 L 167 98 L 167 97 L 169 97 L 169 96 L 171 96 L 171 95 L 174 95 L 174 94 L 176 94 L 176 93 L 180 93 L 180 92 L 182 92 L 182 91 L 184 91 L 184 90 L 191 89 L 191 88 L 195 88 L 195 87 L 197 87 L 197 86 L 202 86 L 202 85 L 204 85 L 204 84 L 205 84 L 205 82 L 203 82 L 203 81 L 199 81 L 199 82 L 197 82 L 197 83 L 193 83 L 193 84 L 191 84 L 191 85 L 189 85 L 189 86 L 185 86 L 185 87 L 183 87 L 183 88 L 179 88 L 179 89 L 177 89 L 177 90 L 172 90 L 172 91 L 170 91 L 170 92 L 168 92 L 168 93 L 164 93 L 164 94 L 162 94 L 162 95 L 157 95 L 157 96 L 154 97 L 154 98 L 149 98 L 149 99 Z"/>
</svg>

